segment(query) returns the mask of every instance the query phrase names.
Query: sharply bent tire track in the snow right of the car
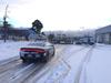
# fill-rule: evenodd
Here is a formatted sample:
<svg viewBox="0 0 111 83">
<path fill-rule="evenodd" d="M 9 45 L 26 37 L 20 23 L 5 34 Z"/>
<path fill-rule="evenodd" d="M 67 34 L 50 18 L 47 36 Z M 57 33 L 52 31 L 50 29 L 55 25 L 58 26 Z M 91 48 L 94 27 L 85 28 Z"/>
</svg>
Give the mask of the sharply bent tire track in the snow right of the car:
<svg viewBox="0 0 111 83">
<path fill-rule="evenodd" d="M 72 48 L 73 45 L 70 45 L 69 48 Z M 68 48 L 68 49 L 69 49 Z M 63 64 L 65 65 L 65 71 L 61 71 L 62 72 L 62 74 L 60 74 L 60 76 L 57 79 L 57 80 L 54 80 L 54 81 L 52 81 L 51 83 L 61 83 L 62 82 L 62 80 L 68 75 L 68 73 L 69 73 L 69 71 L 71 70 L 71 66 L 69 65 L 69 63 L 67 62 L 73 54 L 75 54 L 75 53 L 79 53 L 80 51 L 82 51 L 82 50 L 84 50 L 85 48 L 88 48 L 88 46 L 82 46 L 82 48 L 79 48 L 79 49 L 77 49 L 77 50 L 71 50 L 70 52 L 69 52 L 69 54 L 64 54 L 64 55 L 62 55 L 60 59 L 59 59 L 59 62 L 63 62 Z M 63 65 L 62 64 L 62 65 Z M 61 66 L 62 66 L 61 65 Z M 58 65 L 59 66 L 59 65 Z M 57 72 L 57 74 L 58 74 L 58 72 Z"/>
</svg>

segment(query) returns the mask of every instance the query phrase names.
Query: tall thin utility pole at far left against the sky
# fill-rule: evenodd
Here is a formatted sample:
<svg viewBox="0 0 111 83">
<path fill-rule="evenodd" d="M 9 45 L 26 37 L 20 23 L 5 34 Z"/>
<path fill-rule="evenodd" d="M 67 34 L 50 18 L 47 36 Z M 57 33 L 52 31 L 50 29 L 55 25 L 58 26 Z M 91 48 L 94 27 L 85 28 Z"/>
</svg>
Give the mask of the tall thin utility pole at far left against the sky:
<svg viewBox="0 0 111 83">
<path fill-rule="evenodd" d="M 8 12 L 8 4 L 6 7 L 4 15 L 3 15 L 3 31 L 4 31 L 4 42 L 7 41 L 7 28 L 8 28 L 8 22 L 7 22 L 7 12 Z"/>
</svg>

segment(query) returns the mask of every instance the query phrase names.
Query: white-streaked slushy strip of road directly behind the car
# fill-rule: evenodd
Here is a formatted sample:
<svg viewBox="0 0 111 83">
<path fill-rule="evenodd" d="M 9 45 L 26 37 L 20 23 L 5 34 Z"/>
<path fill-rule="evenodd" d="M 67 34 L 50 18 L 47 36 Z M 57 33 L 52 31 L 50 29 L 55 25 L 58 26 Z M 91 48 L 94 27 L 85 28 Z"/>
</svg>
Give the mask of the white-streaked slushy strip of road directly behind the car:
<svg viewBox="0 0 111 83">
<path fill-rule="evenodd" d="M 40 71 L 43 66 L 44 64 L 39 64 L 39 65 L 31 64 L 24 68 L 23 70 L 17 72 L 11 83 L 24 83 L 27 79 L 30 79 L 30 76 L 33 76 L 33 74 L 37 74 L 36 71 Z"/>
</svg>

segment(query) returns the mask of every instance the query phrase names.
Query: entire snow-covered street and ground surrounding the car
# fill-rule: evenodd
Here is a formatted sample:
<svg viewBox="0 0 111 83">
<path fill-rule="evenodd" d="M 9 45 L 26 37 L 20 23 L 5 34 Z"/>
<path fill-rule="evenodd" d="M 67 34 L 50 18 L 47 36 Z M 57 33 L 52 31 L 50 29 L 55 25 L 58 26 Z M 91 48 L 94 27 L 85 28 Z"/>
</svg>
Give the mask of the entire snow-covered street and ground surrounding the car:
<svg viewBox="0 0 111 83">
<path fill-rule="evenodd" d="M 111 45 L 57 44 L 48 63 L 22 63 L 28 43 L 0 43 L 0 83 L 111 83 Z"/>
</svg>

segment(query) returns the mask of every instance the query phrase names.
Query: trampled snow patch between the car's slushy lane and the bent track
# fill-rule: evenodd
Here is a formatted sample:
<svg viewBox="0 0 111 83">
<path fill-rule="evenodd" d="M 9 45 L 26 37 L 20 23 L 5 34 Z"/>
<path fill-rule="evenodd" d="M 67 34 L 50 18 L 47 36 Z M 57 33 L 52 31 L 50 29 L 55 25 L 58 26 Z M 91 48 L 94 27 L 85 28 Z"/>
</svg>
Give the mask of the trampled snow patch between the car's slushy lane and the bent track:
<svg viewBox="0 0 111 83">
<path fill-rule="evenodd" d="M 64 76 L 68 75 L 70 66 L 63 61 L 59 61 L 59 64 L 49 70 L 37 83 L 61 83 Z"/>
</svg>

